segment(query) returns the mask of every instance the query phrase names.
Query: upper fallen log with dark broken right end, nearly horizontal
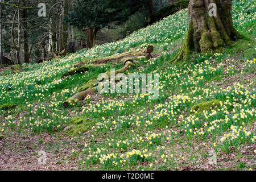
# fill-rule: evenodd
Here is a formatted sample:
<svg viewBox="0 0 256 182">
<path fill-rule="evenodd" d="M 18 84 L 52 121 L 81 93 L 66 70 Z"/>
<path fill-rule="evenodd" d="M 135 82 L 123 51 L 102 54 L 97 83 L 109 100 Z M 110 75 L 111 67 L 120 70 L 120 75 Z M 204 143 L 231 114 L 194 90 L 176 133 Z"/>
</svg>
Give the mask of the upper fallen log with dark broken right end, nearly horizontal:
<svg viewBox="0 0 256 182">
<path fill-rule="evenodd" d="M 145 49 L 131 50 L 129 52 L 121 53 L 117 56 L 109 56 L 109 57 L 103 57 L 98 59 L 86 59 L 73 65 L 73 67 L 74 68 L 81 67 L 88 63 L 91 63 L 91 64 L 119 63 L 120 61 L 122 61 L 127 57 L 129 57 L 132 60 L 137 59 L 139 56 L 145 56 L 147 59 L 151 59 L 152 58 L 151 53 L 153 51 L 154 51 L 153 46 L 147 46 L 147 48 Z"/>
</svg>

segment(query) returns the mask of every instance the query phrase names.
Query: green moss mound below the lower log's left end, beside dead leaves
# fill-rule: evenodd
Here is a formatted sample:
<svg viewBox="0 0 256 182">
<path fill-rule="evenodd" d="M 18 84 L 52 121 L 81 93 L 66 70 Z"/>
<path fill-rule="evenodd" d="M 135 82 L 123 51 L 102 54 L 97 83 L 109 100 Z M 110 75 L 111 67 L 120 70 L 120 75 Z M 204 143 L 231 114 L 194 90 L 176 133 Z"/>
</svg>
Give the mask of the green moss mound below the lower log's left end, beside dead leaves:
<svg viewBox="0 0 256 182">
<path fill-rule="evenodd" d="M 71 120 L 70 129 L 67 133 L 69 137 L 75 137 L 78 134 L 83 134 L 90 130 L 93 126 L 93 121 L 84 117 L 75 117 Z"/>
</svg>

